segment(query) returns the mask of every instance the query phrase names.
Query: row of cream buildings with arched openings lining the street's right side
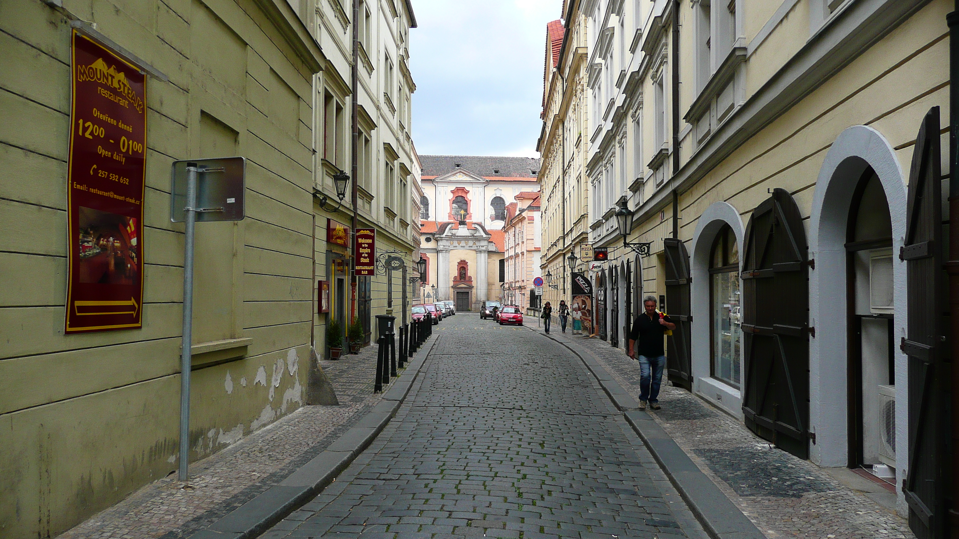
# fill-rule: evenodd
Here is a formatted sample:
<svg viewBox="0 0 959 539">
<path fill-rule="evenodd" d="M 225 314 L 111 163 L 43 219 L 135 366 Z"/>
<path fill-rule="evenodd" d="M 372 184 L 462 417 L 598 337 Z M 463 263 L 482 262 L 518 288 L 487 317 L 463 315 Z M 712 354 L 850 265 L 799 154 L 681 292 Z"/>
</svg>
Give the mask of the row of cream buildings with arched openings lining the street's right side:
<svg viewBox="0 0 959 539">
<path fill-rule="evenodd" d="M 568 0 L 538 143 L 541 268 L 563 276 L 544 299 L 589 279 L 596 337 L 625 348 L 652 295 L 677 322 L 674 386 L 885 477 L 921 538 L 945 536 L 954 487 L 954 9 Z"/>
</svg>

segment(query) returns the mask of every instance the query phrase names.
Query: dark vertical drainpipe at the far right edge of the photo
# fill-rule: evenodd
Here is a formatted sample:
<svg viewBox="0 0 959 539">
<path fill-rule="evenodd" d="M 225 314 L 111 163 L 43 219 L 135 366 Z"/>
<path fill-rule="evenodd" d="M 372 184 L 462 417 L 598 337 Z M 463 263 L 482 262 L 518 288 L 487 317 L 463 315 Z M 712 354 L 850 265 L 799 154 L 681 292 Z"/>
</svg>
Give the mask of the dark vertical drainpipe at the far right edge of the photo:
<svg viewBox="0 0 959 539">
<path fill-rule="evenodd" d="M 949 25 L 949 341 L 952 363 L 959 361 L 959 0 L 955 11 L 946 15 Z M 959 537 L 959 368 L 952 368 L 952 507 L 949 528 Z"/>
</svg>

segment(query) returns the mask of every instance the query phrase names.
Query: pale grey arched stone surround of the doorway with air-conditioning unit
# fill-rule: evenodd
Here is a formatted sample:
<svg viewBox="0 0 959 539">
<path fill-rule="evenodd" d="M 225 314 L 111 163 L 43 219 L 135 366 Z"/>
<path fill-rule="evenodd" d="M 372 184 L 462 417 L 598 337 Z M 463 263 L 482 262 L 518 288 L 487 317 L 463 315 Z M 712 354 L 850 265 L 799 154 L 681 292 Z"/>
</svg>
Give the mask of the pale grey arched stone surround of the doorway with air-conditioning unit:
<svg viewBox="0 0 959 539">
<path fill-rule="evenodd" d="M 847 421 L 847 225 L 859 178 L 872 168 L 876 173 L 892 223 L 893 253 L 902 246 L 906 225 L 906 189 L 901 166 L 889 142 L 876 129 L 854 126 L 833 142 L 819 171 L 808 225 L 809 422 L 816 434 L 810 458 L 822 466 L 845 466 L 848 461 Z M 893 264 L 894 341 L 906 327 L 905 265 L 898 256 Z M 840 298 L 840 299 L 836 299 Z M 906 379 L 906 358 L 894 354 L 897 380 Z M 897 484 L 907 465 L 906 386 L 896 387 Z M 900 504 L 904 504 L 900 494 Z"/>
</svg>

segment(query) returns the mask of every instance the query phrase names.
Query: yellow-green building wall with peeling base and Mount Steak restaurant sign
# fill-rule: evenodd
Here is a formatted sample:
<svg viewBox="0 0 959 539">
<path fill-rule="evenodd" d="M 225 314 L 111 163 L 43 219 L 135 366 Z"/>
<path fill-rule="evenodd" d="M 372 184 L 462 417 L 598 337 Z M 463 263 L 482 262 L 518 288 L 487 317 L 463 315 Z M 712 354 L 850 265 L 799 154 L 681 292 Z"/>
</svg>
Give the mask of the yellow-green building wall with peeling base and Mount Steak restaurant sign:
<svg viewBox="0 0 959 539">
<path fill-rule="evenodd" d="M 0 536 L 178 465 L 177 160 L 246 162 L 245 219 L 196 225 L 189 459 L 304 403 L 325 59 L 292 4 L 0 4 Z"/>
</svg>

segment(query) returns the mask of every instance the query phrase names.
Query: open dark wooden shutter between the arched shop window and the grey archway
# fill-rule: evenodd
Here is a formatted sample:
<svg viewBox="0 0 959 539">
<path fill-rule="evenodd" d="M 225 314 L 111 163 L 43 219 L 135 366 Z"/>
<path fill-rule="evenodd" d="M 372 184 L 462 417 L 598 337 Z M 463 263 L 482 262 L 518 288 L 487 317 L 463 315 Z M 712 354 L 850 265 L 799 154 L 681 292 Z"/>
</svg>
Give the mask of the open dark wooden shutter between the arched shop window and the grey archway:
<svg viewBox="0 0 959 539">
<path fill-rule="evenodd" d="M 746 427 L 808 458 L 808 246 L 799 207 L 787 191 L 774 189 L 756 208 L 744 246 Z"/>
</svg>

